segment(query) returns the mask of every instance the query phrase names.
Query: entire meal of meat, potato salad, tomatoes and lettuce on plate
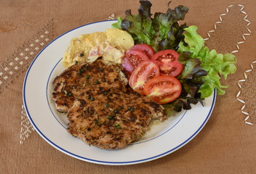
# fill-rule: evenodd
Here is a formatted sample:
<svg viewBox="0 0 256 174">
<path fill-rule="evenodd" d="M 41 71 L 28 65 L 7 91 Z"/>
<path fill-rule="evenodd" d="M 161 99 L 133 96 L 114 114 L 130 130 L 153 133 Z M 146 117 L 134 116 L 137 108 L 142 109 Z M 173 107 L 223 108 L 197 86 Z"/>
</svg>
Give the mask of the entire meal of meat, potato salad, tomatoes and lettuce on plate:
<svg viewBox="0 0 256 174">
<path fill-rule="evenodd" d="M 180 25 L 188 7 L 151 17 L 151 2 L 127 10 L 113 28 L 73 38 L 53 81 L 52 99 L 68 114 L 68 132 L 102 149 L 143 137 L 152 120 L 225 94 L 220 75 L 236 72 L 236 57 L 204 46 L 196 26 Z M 129 86 L 128 86 L 129 82 Z"/>
</svg>

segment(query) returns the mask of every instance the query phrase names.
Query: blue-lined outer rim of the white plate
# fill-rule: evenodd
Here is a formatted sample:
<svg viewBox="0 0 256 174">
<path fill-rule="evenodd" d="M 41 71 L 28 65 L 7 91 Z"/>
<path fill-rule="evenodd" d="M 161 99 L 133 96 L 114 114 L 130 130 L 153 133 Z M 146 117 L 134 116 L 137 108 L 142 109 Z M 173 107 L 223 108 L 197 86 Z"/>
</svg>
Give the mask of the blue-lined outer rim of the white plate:
<svg viewBox="0 0 256 174">
<path fill-rule="evenodd" d="M 95 23 L 99 23 L 99 22 L 109 22 L 109 21 L 115 21 L 115 20 L 103 20 L 103 21 L 98 21 L 98 22 L 92 22 L 92 23 L 89 23 L 87 25 L 92 25 L 92 24 L 95 24 Z M 79 26 L 78 28 L 82 28 L 84 26 L 87 26 L 87 25 L 81 25 Z M 67 33 L 70 33 L 71 31 L 73 30 L 76 30 L 78 28 L 73 28 L 72 30 L 69 30 L 65 33 L 63 33 L 62 35 L 58 36 L 57 38 L 55 38 L 54 40 L 52 40 L 50 43 L 47 44 L 47 46 L 44 47 L 44 49 L 46 49 L 51 43 L 53 43 L 54 41 L 56 41 L 58 38 L 64 36 L 65 34 Z M 209 120 L 209 117 L 210 115 L 212 114 L 212 110 L 215 106 L 215 99 L 216 99 L 216 89 L 214 91 L 214 96 L 213 96 L 213 99 L 212 99 L 212 105 L 211 105 L 211 108 L 209 109 L 209 113 L 206 117 L 206 119 L 204 120 L 204 122 L 201 124 L 201 126 L 196 130 L 195 133 L 193 133 L 192 136 L 190 136 L 188 139 L 186 139 L 185 141 L 183 141 L 183 143 L 181 143 L 180 145 L 176 146 L 175 148 L 172 148 L 170 149 L 169 151 L 167 152 L 164 152 L 164 153 L 161 153 L 161 154 L 158 154 L 158 155 L 155 155 L 153 157 L 148 157 L 148 158 L 145 158 L 145 159 L 140 159 L 140 160 L 134 160 L 134 161 L 127 161 L 127 162 L 108 162 L 108 161 L 100 161 L 100 160 L 95 160 L 95 159 L 89 159 L 89 158 L 86 158 L 86 157 L 81 157 L 79 155 L 76 155 L 76 154 L 73 154 L 71 152 L 68 152 L 66 151 L 65 149 L 61 148 L 60 146 L 57 146 L 57 144 L 53 143 L 51 140 L 49 140 L 49 138 L 47 138 L 47 136 L 44 136 L 43 133 L 41 133 L 41 131 L 39 130 L 39 128 L 37 128 L 36 124 L 33 122 L 33 119 L 29 113 L 29 110 L 28 110 L 28 106 L 27 106 L 27 103 L 26 103 L 26 99 L 25 99 L 25 87 L 26 87 L 26 82 L 27 82 L 27 78 L 28 78 L 28 74 L 31 70 L 31 67 L 33 66 L 33 63 L 36 61 L 36 59 L 39 57 L 39 55 L 41 54 L 42 51 L 44 51 L 44 49 L 41 49 L 41 51 L 39 52 L 39 54 L 36 55 L 36 57 L 33 59 L 33 61 L 31 62 L 31 65 L 28 67 L 28 71 L 26 72 L 25 74 L 25 78 L 24 78 L 24 83 L 23 83 L 23 104 L 24 104 L 24 107 L 25 107 L 25 112 L 27 113 L 28 115 L 28 119 L 30 120 L 31 124 L 33 125 L 33 128 L 35 128 L 35 130 L 37 131 L 37 133 L 39 133 L 39 135 L 44 138 L 45 141 L 47 141 L 49 144 L 51 144 L 52 146 L 54 146 L 56 149 L 60 150 L 60 152 L 63 152 L 65 154 L 68 154 L 69 156 L 71 157 L 75 157 L 77 159 L 81 159 L 81 160 L 84 160 L 84 161 L 87 161 L 87 162 L 93 162 L 93 163 L 97 163 L 97 164 L 102 164 L 102 165 L 132 165 L 132 164 L 137 164 L 137 163 L 141 163 L 141 162 L 148 162 L 148 161 L 151 161 L 153 159 L 158 159 L 159 157 L 164 157 L 166 156 L 167 154 L 170 154 L 172 152 L 175 152 L 177 149 L 180 149 L 180 147 L 184 146 L 185 144 L 187 144 L 189 141 L 191 141 L 191 139 L 196 136 L 200 130 L 204 127 L 204 125 L 207 123 L 207 120 Z"/>
</svg>

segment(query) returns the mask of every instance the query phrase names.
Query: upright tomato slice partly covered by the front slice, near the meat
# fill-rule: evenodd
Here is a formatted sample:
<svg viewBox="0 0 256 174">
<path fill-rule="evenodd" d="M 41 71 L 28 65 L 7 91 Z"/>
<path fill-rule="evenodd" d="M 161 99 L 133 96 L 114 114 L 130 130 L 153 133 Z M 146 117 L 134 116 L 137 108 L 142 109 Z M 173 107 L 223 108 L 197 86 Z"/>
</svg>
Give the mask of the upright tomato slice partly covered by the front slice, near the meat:
<svg viewBox="0 0 256 174">
<path fill-rule="evenodd" d="M 151 78 L 159 76 L 159 66 L 153 61 L 141 62 L 132 72 L 129 78 L 129 86 L 134 91 L 144 95 L 143 88 L 145 83 Z"/>
</svg>

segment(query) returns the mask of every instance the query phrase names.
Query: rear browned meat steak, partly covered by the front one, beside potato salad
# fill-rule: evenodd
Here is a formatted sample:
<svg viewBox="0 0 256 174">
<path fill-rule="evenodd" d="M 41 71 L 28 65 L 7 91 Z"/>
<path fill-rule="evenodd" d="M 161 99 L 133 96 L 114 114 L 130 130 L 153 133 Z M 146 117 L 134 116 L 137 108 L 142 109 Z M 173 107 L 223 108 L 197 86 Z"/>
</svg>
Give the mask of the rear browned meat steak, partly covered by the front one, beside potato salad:
<svg viewBox="0 0 256 174">
<path fill-rule="evenodd" d="M 52 99 L 58 111 L 68 112 L 81 94 L 79 91 L 93 86 L 117 88 L 126 91 L 127 77 L 116 65 L 105 65 L 102 59 L 68 67 L 53 81 Z"/>
</svg>

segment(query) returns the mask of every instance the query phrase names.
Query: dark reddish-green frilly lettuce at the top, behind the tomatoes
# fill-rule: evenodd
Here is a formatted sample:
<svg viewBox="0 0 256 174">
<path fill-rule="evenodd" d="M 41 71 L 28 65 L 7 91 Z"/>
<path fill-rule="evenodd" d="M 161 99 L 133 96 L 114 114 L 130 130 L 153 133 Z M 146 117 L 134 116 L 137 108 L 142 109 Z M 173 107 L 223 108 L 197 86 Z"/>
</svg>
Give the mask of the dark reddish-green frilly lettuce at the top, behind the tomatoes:
<svg viewBox="0 0 256 174">
<path fill-rule="evenodd" d="M 113 28 L 126 30 L 137 43 L 146 43 L 160 51 L 163 49 L 178 49 L 180 41 L 183 41 L 185 24 L 179 25 L 180 20 L 184 20 L 188 7 L 178 6 L 175 9 L 167 9 L 166 13 L 156 12 L 151 17 L 151 2 L 140 1 L 138 14 L 132 14 L 128 9 L 125 17 L 117 18 L 113 23 Z"/>
</svg>

